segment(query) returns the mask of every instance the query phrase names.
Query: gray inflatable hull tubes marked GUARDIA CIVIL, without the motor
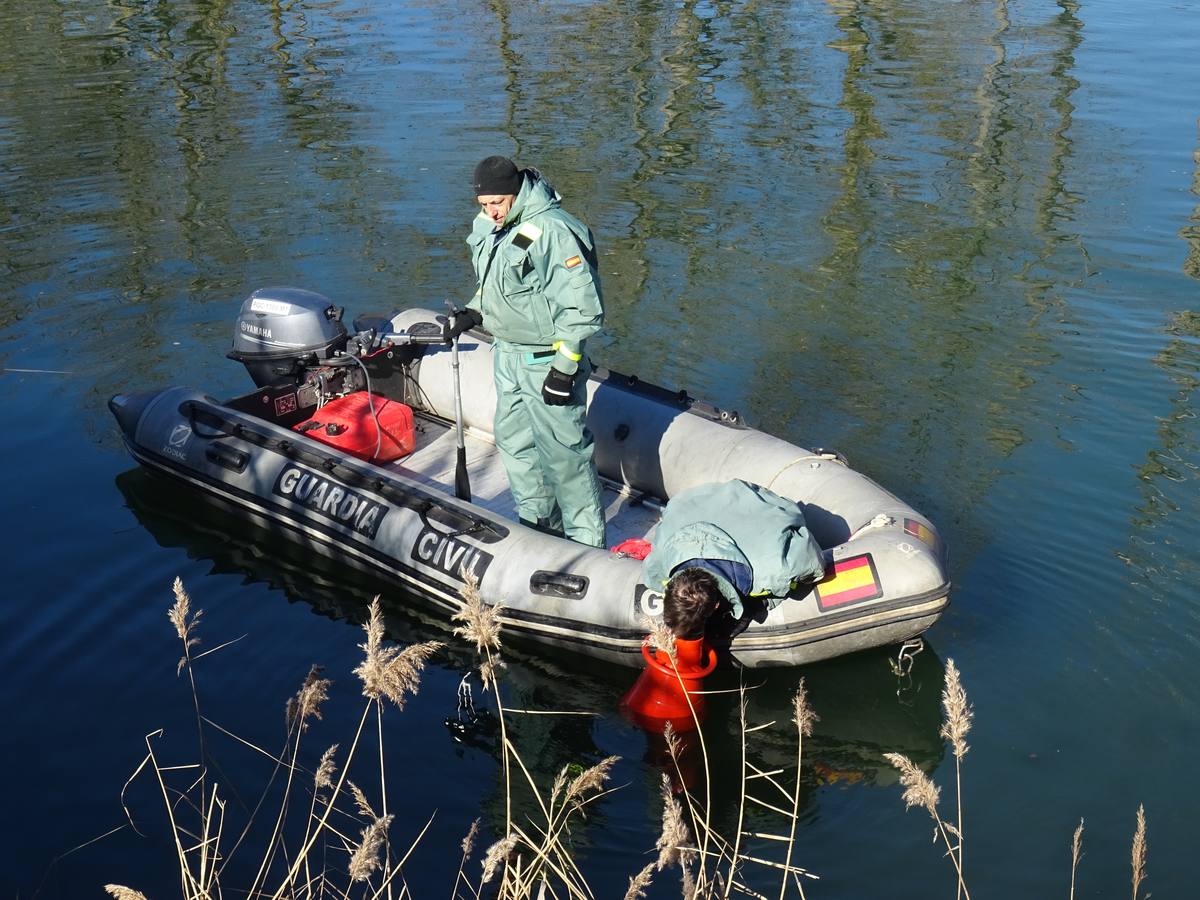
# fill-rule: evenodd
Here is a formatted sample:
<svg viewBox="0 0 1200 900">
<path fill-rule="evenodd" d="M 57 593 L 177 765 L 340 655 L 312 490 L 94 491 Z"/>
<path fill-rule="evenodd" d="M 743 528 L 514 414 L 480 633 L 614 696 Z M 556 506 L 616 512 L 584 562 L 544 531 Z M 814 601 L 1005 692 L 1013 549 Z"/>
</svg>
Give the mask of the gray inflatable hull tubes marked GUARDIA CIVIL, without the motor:
<svg viewBox="0 0 1200 900">
<path fill-rule="evenodd" d="M 434 313 L 398 313 L 403 331 Z M 474 503 L 454 497 L 454 380 L 448 350 L 414 364 L 406 400 L 424 440 L 377 466 L 200 391 L 120 395 L 110 408 L 134 458 L 347 565 L 382 574 L 431 608 L 460 607 L 463 571 L 502 606 L 509 638 L 641 666 L 644 617 L 662 598 L 638 560 L 517 523 L 491 442 L 491 343 L 460 342 Z M 922 634 L 949 599 L 934 524 L 833 455 L 745 427 L 736 414 L 599 370 L 588 424 L 606 485 L 608 539 L 653 542 L 665 499 L 733 478 L 803 504 L 832 557 L 824 582 L 762 614 L 731 646 L 749 667 L 794 666 Z M 397 397 L 398 398 L 398 397 Z"/>
</svg>

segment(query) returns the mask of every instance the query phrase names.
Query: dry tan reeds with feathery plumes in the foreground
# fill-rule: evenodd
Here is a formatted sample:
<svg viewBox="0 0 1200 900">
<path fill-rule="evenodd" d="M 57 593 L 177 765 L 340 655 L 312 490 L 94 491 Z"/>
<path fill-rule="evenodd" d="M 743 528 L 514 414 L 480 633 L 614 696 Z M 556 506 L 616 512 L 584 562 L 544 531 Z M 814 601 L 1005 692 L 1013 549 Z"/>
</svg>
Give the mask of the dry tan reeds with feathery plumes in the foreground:
<svg viewBox="0 0 1200 900">
<path fill-rule="evenodd" d="M 168 611 L 168 617 L 175 626 L 176 635 L 184 646 L 182 658 L 179 661 L 178 673 L 184 668 L 188 670 L 188 683 L 192 694 L 192 706 L 197 719 L 197 730 L 200 740 L 202 764 L 199 766 L 164 766 L 158 758 L 156 748 L 161 731 L 152 732 L 145 737 L 146 757 L 138 767 L 138 772 L 131 776 L 130 781 L 137 778 L 143 769 L 151 769 L 158 786 L 162 803 L 167 811 L 170 839 L 174 844 L 175 856 L 179 863 L 180 893 L 185 900 L 215 900 L 224 894 L 239 894 L 256 900 L 270 896 L 272 900 L 296 900 L 299 898 L 348 898 L 353 889 L 355 896 L 370 898 L 371 900 L 406 900 L 410 896 L 408 884 L 404 882 L 403 870 L 416 846 L 427 833 L 432 816 L 420 829 L 420 833 L 412 840 L 407 851 L 400 856 L 400 847 L 392 852 L 390 829 L 396 821 L 392 804 L 389 800 L 389 780 L 385 775 L 386 756 L 383 739 L 383 712 L 384 701 L 391 701 L 397 709 L 403 709 L 407 698 L 416 694 L 420 683 L 420 673 L 428 658 L 440 648 L 438 642 L 426 642 L 412 644 L 406 648 L 384 646 L 383 614 L 376 598 L 370 607 L 370 613 L 364 630 L 366 641 L 360 644 L 364 649 L 362 662 L 354 670 L 354 674 L 361 679 L 362 696 L 366 698 L 362 712 L 354 731 L 353 740 L 346 754 L 344 762 L 338 766 L 335 762 L 338 745 L 334 744 L 320 756 L 320 762 L 312 776 L 312 797 L 304 823 L 302 835 L 298 845 L 290 845 L 290 834 L 299 823 L 294 820 L 299 810 L 289 809 L 296 804 L 289 803 L 292 792 L 300 782 L 299 775 L 304 772 L 301 758 L 301 745 L 304 733 L 308 727 L 308 720 L 320 719 L 320 703 L 328 698 L 330 682 L 319 677 L 319 668 L 313 667 L 305 679 L 300 691 L 288 702 L 288 732 L 284 748 L 278 755 L 269 754 L 252 744 L 247 746 L 262 752 L 275 762 L 275 772 L 271 774 L 268 787 L 275 782 L 280 768 L 287 769 L 287 779 L 282 788 L 282 798 L 278 810 L 275 814 L 274 823 L 270 828 L 262 860 L 258 864 L 248 890 L 234 892 L 229 886 L 222 886 L 221 876 L 226 870 L 229 857 L 223 854 L 221 845 L 224 838 L 227 817 L 226 800 L 222 799 L 220 785 L 210 782 L 206 778 L 205 762 L 208 761 L 208 748 L 205 734 L 209 730 L 205 724 L 218 731 L 226 732 L 217 722 L 205 719 L 200 714 L 199 695 L 194 674 L 194 664 L 206 654 L 194 654 L 192 650 L 199 638 L 196 634 L 197 623 L 200 620 L 202 611 L 192 612 L 191 599 L 187 596 L 182 583 L 176 578 L 174 584 L 175 601 Z M 511 739 L 508 728 L 508 716 L 499 696 L 499 674 L 503 668 L 500 659 L 500 620 L 499 606 L 487 606 L 482 602 L 478 583 L 464 574 L 464 586 L 462 589 L 463 605 L 455 614 L 455 622 L 460 626 L 456 634 L 467 637 L 475 643 L 479 655 L 479 672 L 484 679 L 485 689 L 493 690 L 493 698 L 497 706 L 500 730 L 500 760 L 503 766 L 504 790 L 505 790 L 505 818 L 504 836 L 487 848 L 481 860 L 481 877 L 479 884 L 472 883 L 467 876 L 467 864 L 474 852 L 475 840 L 479 834 L 479 820 L 472 824 L 467 836 L 462 841 L 462 857 L 458 864 L 454 884 L 450 890 L 450 900 L 460 899 L 460 888 L 466 884 L 473 900 L 480 900 L 484 886 L 490 886 L 486 892 L 496 900 L 594 900 L 593 892 L 587 878 L 570 847 L 571 823 L 576 817 L 586 816 L 588 808 L 611 793 L 607 782 L 612 776 L 613 768 L 618 758 L 606 757 L 587 769 L 574 772 L 570 766 L 564 766 L 553 779 L 548 794 L 538 785 L 524 761 L 521 758 L 518 749 Z M 673 638 L 667 641 L 664 636 L 648 638 L 674 660 Z M 660 643 L 655 643 L 660 642 Z M 217 648 L 220 649 L 220 648 Z M 209 650 L 208 653 L 211 653 Z M 658 858 L 644 865 L 636 875 L 629 878 L 625 892 L 625 900 L 642 900 L 652 884 L 654 874 L 662 871 L 670 865 L 678 865 L 680 869 L 682 890 L 685 898 L 703 898 L 710 900 L 714 896 L 730 898 L 733 893 L 746 896 L 763 898 L 755 886 L 746 878 L 746 870 L 754 866 L 762 866 L 769 870 L 772 884 L 775 874 L 781 875 L 779 900 L 788 893 L 788 883 L 794 882 L 800 900 L 804 900 L 804 888 L 802 878 L 814 878 L 806 870 L 793 864 L 796 852 L 796 838 L 799 822 L 799 803 L 803 786 L 803 762 L 804 740 L 812 734 L 816 714 L 809 707 L 804 679 L 798 683 L 792 704 L 792 724 L 796 727 L 796 778 L 791 788 L 776 779 L 785 769 L 766 770 L 751 761 L 751 745 L 756 732 L 770 727 L 774 722 L 751 725 L 749 721 L 749 703 L 746 686 L 739 686 L 739 733 L 740 733 L 740 785 L 738 797 L 738 809 L 736 820 L 736 833 L 732 841 L 722 838 L 713 828 L 712 805 L 713 787 L 712 773 L 707 745 L 704 743 L 703 730 L 700 727 L 697 709 L 692 702 L 692 696 L 688 692 L 683 676 L 676 666 L 676 676 L 679 680 L 680 690 L 689 704 L 694 725 L 696 726 L 696 739 L 701 758 L 703 761 L 703 775 L 706 792 L 703 797 L 703 810 L 695 797 L 688 791 L 683 791 L 683 798 L 677 798 L 671 787 L 668 775 L 662 775 L 662 827 L 655 844 Z M 947 661 L 946 674 L 942 690 L 943 722 L 941 736 L 949 743 L 955 758 L 954 770 L 954 794 L 956 814 L 943 816 L 938 809 L 941 790 L 932 780 L 922 772 L 908 757 L 901 754 L 886 754 L 886 758 L 899 770 L 900 784 L 904 787 L 902 798 L 906 809 L 920 806 L 935 822 L 935 839 L 940 838 L 946 847 L 946 854 L 954 865 L 958 882 L 956 892 L 959 900 L 970 900 L 970 890 L 964 877 L 964 804 L 962 804 L 962 758 L 968 751 L 966 738 L 971 731 L 973 709 L 967 701 L 962 689 L 961 677 L 954 660 Z M 544 712 L 553 715 L 560 713 Z M 360 743 L 366 738 L 367 722 L 374 720 L 376 746 L 373 762 L 379 766 L 379 808 L 376 812 L 367 796 L 349 779 L 350 763 L 355 758 Z M 238 740 L 236 736 L 232 736 Z M 684 767 L 680 762 L 682 749 L 678 737 L 667 727 L 664 738 L 670 751 L 672 764 L 680 784 L 686 784 L 684 779 Z M 241 742 L 246 743 L 246 742 Z M 368 762 L 368 766 L 371 762 Z M 214 760 L 214 766 L 216 761 Z M 184 786 L 179 775 L 185 769 L 198 769 L 198 775 L 192 784 Z M 220 770 L 220 769 L 215 769 Z M 520 773 L 520 775 L 517 774 Z M 528 784 L 532 796 L 540 809 L 544 821 L 517 822 L 514 816 L 514 781 L 523 776 Z M 778 797 L 768 794 L 762 798 L 762 792 L 751 790 L 751 781 L 766 781 L 786 803 Z M 181 788 L 175 788 L 172 782 L 180 784 Z M 126 785 L 127 786 L 127 785 Z M 523 788 L 522 788 L 523 791 Z M 199 802 L 196 802 L 197 793 Z M 124 805 L 122 788 L 122 805 Z M 352 829 L 340 828 L 334 818 L 337 815 L 348 815 L 346 806 L 353 798 L 358 806 L 360 818 L 360 830 L 354 839 L 346 834 Z M 250 833 L 251 823 L 262 810 L 266 799 L 263 798 L 253 810 L 247 810 L 251 822 L 241 830 L 234 851 L 241 845 L 242 839 Z M 768 799 L 773 802 L 768 802 Z M 340 805 L 341 803 L 341 805 Z M 186 804 L 186 809 L 181 808 Z M 785 817 L 788 821 L 786 834 L 772 834 L 770 829 L 746 830 L 748 804 Z M 191 811 L 188 811 L 191 810 Z M 530 810 L 534 810 L 530 806 Z M 128 815 L 128 810 L 127 815 Z M 198 820 L 198 827 L 188 827 L 192 816 Z M 289 817 L 293 820 L 289 823 Z M 534 815 L 536 818 L 536 814 Z M 132 822 L 132 817 L 131 817 Z M 689 829 L 689 823 L 694 829 Z M 1130 851 L 1132 860 L 1132 900 L 1144 900 L 1141 887 L 1146 880 L 1147 838 L 1146 838 L 1145 808 L 1139 805 L 1136 812 L 1136 828 L 1133 836 Z M 1082 857 L 1082 833 L 1084 821 L 1080 820 L 1072 840 L 1072 869 L 1069 899 L 1074 900 L 1076 888 L 1076 875 Z M 288 835 L 286 841 L 284 835 Z M 786 853 L 784 860 L 768 859 L 773 853 L 756 853 L 754 844 L 748 839 L 769 840 L 784 842 Z M 324 860 L 319 870 L 314 870 L 313 857 L 318 842 L 325 841 L 326 852 L 337 852 L 340 842 L 347 853 L 347 863 L 342 877 L 349 880 L 346 887 L 335 886 L 330 875 L 332 870 Z M 290 848 L 289 848 L 290 845 Z M 290 851 L 295 851 L 294 853 Z M 396 857 L 400 856 L 397 859 Z M 692 865 L 695 863 L 695 865 Z M 268 884 L 274 876 L 284 870 L 282 880 L 270 890 Z M 302 872 L 302 877 L 301 877 Z M 496 882 L 499 877 L 498 883 Z M 121 884 L 106 884 L 106 892 L 115 900 L 145 900 L 139 892 Z M 270 892 L 270 893 L 269 893 Z"/>
</svg>

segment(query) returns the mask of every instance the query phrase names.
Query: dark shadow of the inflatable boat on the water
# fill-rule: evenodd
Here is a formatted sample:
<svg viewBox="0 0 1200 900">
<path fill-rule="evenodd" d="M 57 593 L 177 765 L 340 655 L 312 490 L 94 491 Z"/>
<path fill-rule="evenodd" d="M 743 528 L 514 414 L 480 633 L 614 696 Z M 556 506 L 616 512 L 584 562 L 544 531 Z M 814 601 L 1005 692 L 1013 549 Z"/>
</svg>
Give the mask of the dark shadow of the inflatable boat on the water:
<svg viewBox="0 0 1200 900">
<path fill-rule="evenodd" d="M 425 612 L 419 602 L 395 584 L 371 572 L 349 569 L 322 553 L 310 553 L 301 544 L 284 540 L 268 529 L 222 508 L 206 496 L 138 467 L 116 476 L 116 487 L 138 522 L 162 547 L 180 548 L 188 558 L 208 560 L 210 574 L 240 575 L 248 583 L 263 583 L 281 592 L 290 602 L 302 602 L 332 620 L 361 625 L 367 605 L 378 595 L 386 613 L 389 638 L 400 644 L 443 641 L 446 648 L 434 665 L 466 673 L 475 665 L 473 650 L 450 631 L 444 618 Z M 532 774 L 550 780 L 565 764 L 595 762 L 611 750 L 598 740 L 602 727 L 614 727 L 624 737 L 624 755 L 641 745 L 647 775 L 667 774 L 694 796 L 704 794 L 704 762 L 695 734 L 683 736 L 682 772 L 666 754 L 662 737 L 646 733 L 620 720 L 620 698 L 635 679 L 631 670 L 586 656 L 570 667 L 545 652 L 505 643 L 503 674 L 505 706 L 530 710 L 581 710 L 594 716 L 524 716 L 515 730 L 515 743 Z M 886 752 L 901 752 L 919 768 L 932 773 L 943 757 L 941 690 L 943 666 L 928 644 L 896 671 L 896 649 L 877 648 L 794 668 L 719 668 L 704 689 L 707 715 L 703 726 L 707 770 L 713 773 L 709 796 L 714 811 L 736 806 L 742 764 L 739 688 L 745 686 L 746 725 L 774 722 L 748 738 L 746 760 L 764 772 L 784 770 L 786 784 L 794 779 L 796 728 L 791 718 L 796 689 L 804 679 L 810 707 L 817 713 L 811 737 L 804 740 L 800 816 L 816 815 L 821 791 L 827 787 L 892 786 L 898 782 Z M 499 758 L 499 736 L 492 713 L 480 701 L 478 678 L 474 712 L 448 704 L 445 724 L 460 752 L 482 751 Z M 604 725 L 600 725 L 604 722 Z M 653 793 L 653 786 L 648 786 Z M 492 803 L 485 803 L 491 808 Z M 497 809 L 499 802 L 497 800 Z M 491 818 L 490 814 L 486 814 Z M 719 824 L 719 823 L 718 823 Z"/>
</svg>

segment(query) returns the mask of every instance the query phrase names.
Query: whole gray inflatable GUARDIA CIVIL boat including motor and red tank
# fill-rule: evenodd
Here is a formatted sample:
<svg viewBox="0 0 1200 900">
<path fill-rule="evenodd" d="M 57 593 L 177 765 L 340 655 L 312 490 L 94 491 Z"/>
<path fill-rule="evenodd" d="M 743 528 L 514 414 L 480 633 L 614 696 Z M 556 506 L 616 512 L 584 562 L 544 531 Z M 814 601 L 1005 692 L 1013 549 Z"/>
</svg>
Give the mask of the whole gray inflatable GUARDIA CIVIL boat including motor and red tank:
<svg viewBox="0 0 1200 900">
<path fill-rule="evenodd" d="M 502 607 L 505 640 L 641 666 L 661 586 L 642 582 L 635 556 L 520 523 L 491 434 L 491 338 L 470 331 L 454 350 L 440 322 L 406 310 L 359 317 L 352 331 L 320 294 L 257 290 L 229 352 L 253 391 L 220 401 L 174 386 L 120 394 L 109 408 L 145 468 L 383 576 L 436 616 L 460 608 L 469 577 Z M 704 482 L 744 479 L 802 505 L 826 577 L 773 610 L 751 606 L 727 648 L 738 664 L 794 666 L 900 643 L 946 608 L 934 524 L 840 455 L 604 368 L 589 380 L 587 415 L 613 547 L 653 542 L 670 498 Z"/>
</svg>

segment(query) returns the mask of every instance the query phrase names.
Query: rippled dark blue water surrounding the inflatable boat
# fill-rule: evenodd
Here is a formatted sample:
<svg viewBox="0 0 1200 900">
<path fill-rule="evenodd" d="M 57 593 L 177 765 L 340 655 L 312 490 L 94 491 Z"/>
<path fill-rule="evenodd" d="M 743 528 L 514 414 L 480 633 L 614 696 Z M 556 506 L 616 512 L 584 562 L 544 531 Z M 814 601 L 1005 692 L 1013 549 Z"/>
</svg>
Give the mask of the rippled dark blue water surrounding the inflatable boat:
<svg viewBox="0 0 1200 900">
<path fill-rule="evenodd" d="M 245 390 L 224 353 L 264 284 L 353 313 L 466 296 L 469 173 L 504 152 L 596 232 L 602 362 L 840 449 L 952 548 L 953 604 L 910 678 L 872 653 L 749 679 L 751 722 L 778 722 L 748 755 L 784 780 L 799 677 L 822 716 L 797 845 L 821 875 L 808 895 L 953 894 L 882 760 L 906 752 L 953 792 L 949 658 L 977 710 L 973 898 L 1066 895 L 1080 817 L 1079 895 L 1128 894 L 1139 804 L 1144 888 L 1189 895 L 1198 34 L 1190 5 L 1158 1 L 0 4 L 0 893 L 178 890 L 154 785 L 125 794 L 144 836 L 121 797 L 144 736 L 164 730 L 164 764 L 196 758 L 175 576 L 205 611 L 200 648 L 236 638 L 197 665 L 221 727 L 278 750 L 287 698 L 326 667 L 310 763 L 358 724 L 374 593 L 394 640 L 446 641 L 384 719 L 392 840 L 433 817 L 406 875 L 438 896 L 470 822 L 498 836 L 494 737 L 444 726 L 468 649 L 390 586 L 136 470 L 104 404 L 174 383 Z M 574 829 L 596 896 L 620 896 L 660 811 L 653 748 L 616 714 L 631 674 L 506 655 L 508 706 L 598 714 L 515 726 L 538 778 L 622 757 L 619 790 Z M 736 698 L 716 698 L 730 833 L 737 732 Z M 252 805 L 269 763 L 209 740 L 230 809 Z M 768 818 L 749 830 L 778 830 Z M 239 854 L 233 871 L 253 857 Z M 770 872 L 745 877 L 778 894 Z"/>
</svg>

